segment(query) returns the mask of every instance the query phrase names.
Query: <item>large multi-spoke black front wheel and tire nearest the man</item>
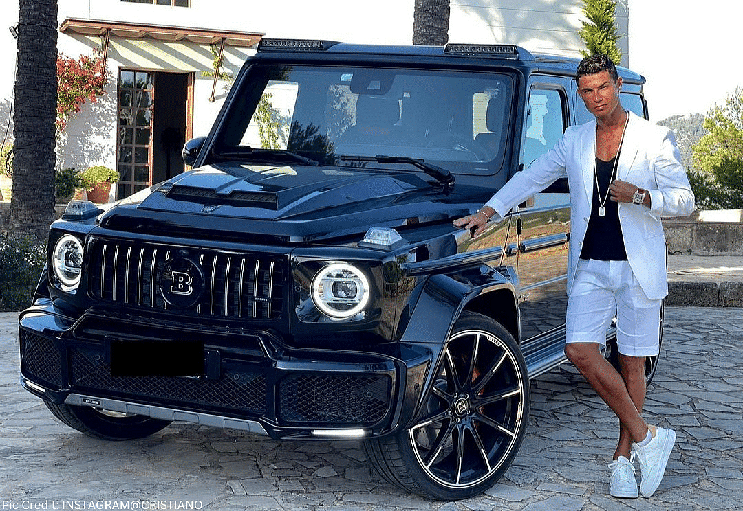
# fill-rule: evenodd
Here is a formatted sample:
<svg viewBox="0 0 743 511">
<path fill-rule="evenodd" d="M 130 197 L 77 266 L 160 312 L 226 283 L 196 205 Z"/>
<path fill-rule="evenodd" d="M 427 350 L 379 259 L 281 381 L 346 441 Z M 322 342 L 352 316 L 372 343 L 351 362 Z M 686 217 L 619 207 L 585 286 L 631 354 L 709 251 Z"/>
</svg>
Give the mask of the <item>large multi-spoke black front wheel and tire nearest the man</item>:
<svg viewBox="0 0 743 511">
<path fill-rule="evenodd" d="M 453 501 L 484 492 L 519 451 L 528 423 L 529 378 L 516 340 L 499 323 L 465 312 L 413 426 L 366 441 L 387 481 Z"/>
</svg>

